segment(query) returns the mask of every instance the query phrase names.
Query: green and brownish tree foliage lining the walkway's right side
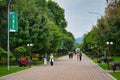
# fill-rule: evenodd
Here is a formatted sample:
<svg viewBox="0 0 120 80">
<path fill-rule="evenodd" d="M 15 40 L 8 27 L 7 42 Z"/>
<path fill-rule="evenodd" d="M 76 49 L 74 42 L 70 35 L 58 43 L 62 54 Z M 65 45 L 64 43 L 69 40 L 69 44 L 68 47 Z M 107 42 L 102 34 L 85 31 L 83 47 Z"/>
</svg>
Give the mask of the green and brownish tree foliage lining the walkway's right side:
<svg viewBox="0 0 120 80">
<path fill-rule="evenodd" d="M 83 48 L 88 51 L 97 45 L 97 52 L 107 50 L 106 42 L 113 42 L 110 46 L 111 55 L 120 56 L 120 1 L 111 2 L 105 9 L 105 15 L 97 21 L 97 25 L 84 36 Z"/>
</svg>

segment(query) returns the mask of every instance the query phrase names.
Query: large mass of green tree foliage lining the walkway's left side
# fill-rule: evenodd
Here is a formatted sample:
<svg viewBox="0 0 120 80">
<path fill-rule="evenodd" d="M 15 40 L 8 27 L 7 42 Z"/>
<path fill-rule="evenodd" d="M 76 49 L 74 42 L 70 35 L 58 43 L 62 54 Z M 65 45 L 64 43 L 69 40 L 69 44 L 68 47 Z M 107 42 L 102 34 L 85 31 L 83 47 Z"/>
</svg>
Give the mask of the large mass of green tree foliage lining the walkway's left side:
<svg viewBox="0 0 120 80">
<path fill-rule="evenodd" d="M 1 4 L 0 4 L 1 6 Z M 5 8 L 5 9 L 4 9 Z M 10 11 L 18 13 L 18 32 L 10 33 L 10 51 L 14 56 L 28 55 L 28 43 L 34 44 L 32 53 L 43 55 L 57 52 L 64 40 L 65 49 L 72 49 L 74 37 L 67 32 L 64 9 L 49 0 L 15 0 Z M 0 44 L 5 50 L 7 45 L 7 8 L 0 7 Z M 3 28 L 4 27 L 4 28 Z"/>
</svg>

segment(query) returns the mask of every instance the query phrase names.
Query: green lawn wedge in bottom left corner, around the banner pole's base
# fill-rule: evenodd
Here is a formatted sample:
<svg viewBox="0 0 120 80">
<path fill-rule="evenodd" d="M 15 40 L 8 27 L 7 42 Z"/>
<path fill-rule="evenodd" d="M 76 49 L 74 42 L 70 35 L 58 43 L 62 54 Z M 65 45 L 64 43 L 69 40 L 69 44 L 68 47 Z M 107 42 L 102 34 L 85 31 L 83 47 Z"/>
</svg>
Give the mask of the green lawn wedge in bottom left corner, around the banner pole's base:
<svg viewBox="0 0 120 80">
<path fill-rule="evenodd" d="M 21 70 L 25 70 L 27 68 L 28 67 L 12 67 L 10 68 L 10 70 L 8 70 L 7 66 L 0 66 L 0 77 L 11 74 L 11 73 L 15 73 Z"/>
</svg>

